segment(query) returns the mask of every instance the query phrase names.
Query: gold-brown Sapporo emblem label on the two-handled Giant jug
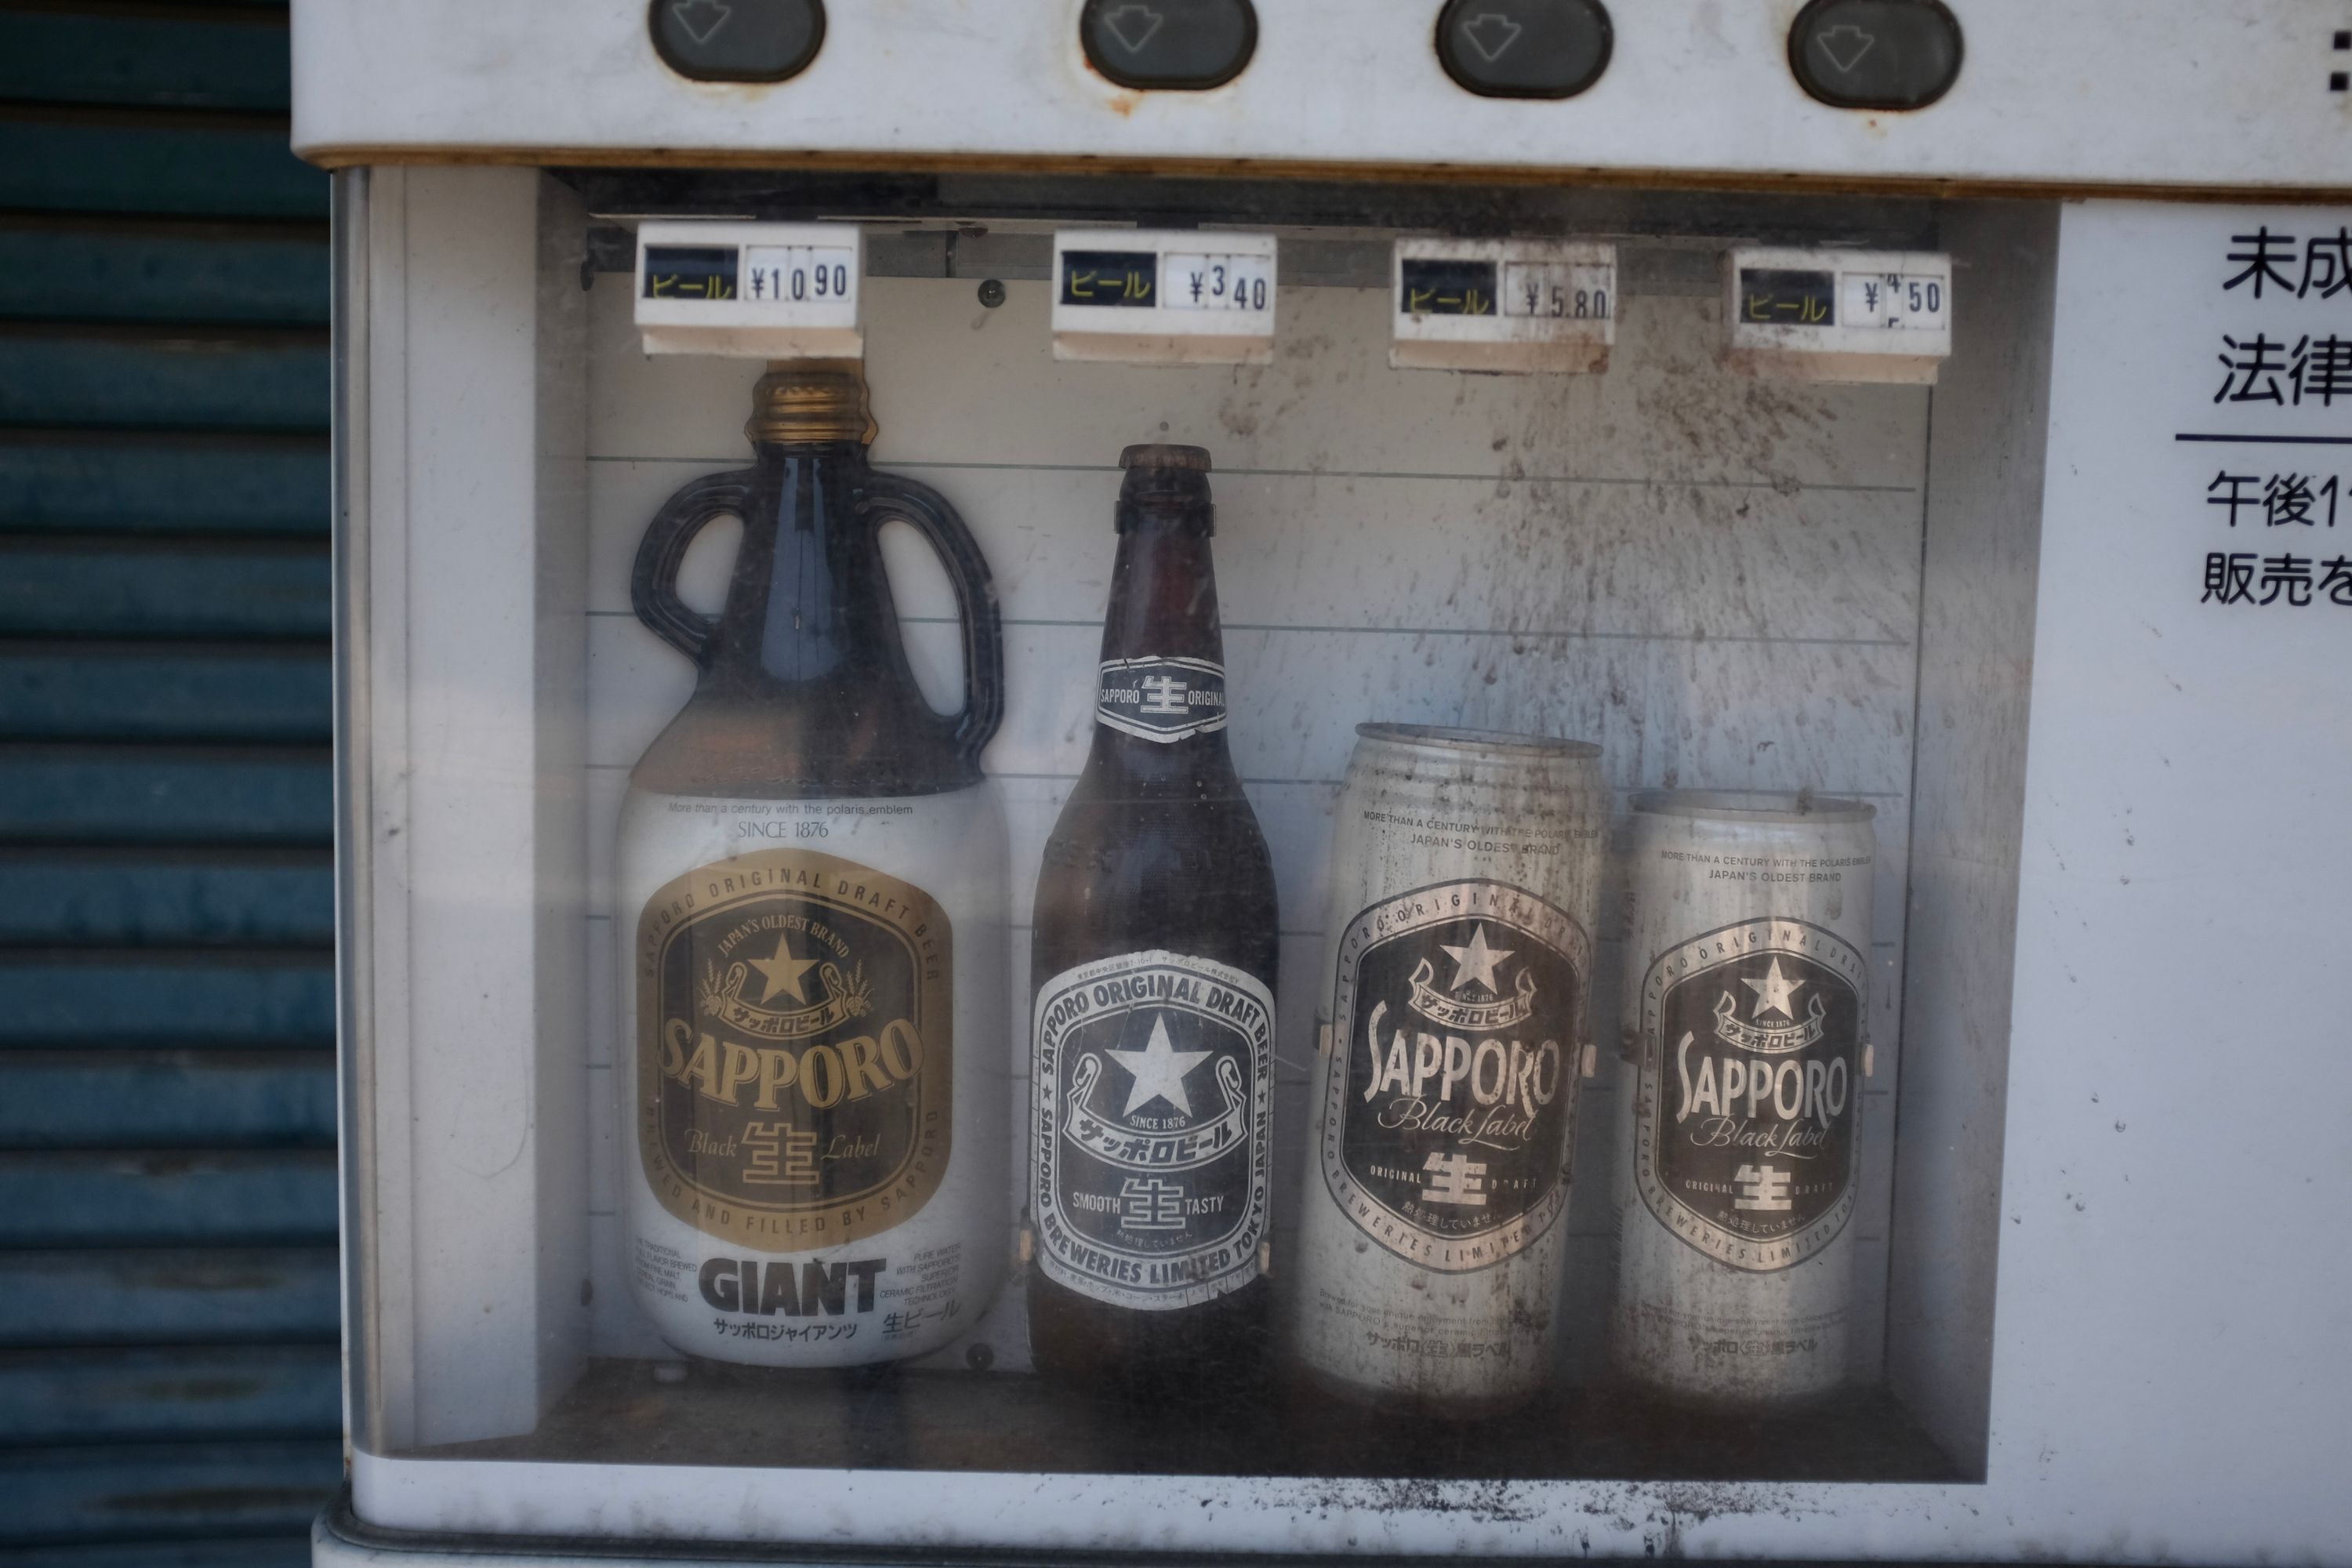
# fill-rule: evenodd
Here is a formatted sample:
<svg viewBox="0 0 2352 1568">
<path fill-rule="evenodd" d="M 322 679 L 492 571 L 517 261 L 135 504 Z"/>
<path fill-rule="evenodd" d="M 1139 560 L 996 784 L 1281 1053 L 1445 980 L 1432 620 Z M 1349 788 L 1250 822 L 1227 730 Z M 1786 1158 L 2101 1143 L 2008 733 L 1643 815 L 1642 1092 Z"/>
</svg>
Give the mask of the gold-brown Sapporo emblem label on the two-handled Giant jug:
<svg viewBox="0 0 2352 1568">
<path fill-rule="evenodd" d="M 677 877 L 637 917 L 637 1152 L 673 1215 L 797 1253 L 948 1171 L 953 933 L 917 886 L 804 849 Z"/>
</svg>

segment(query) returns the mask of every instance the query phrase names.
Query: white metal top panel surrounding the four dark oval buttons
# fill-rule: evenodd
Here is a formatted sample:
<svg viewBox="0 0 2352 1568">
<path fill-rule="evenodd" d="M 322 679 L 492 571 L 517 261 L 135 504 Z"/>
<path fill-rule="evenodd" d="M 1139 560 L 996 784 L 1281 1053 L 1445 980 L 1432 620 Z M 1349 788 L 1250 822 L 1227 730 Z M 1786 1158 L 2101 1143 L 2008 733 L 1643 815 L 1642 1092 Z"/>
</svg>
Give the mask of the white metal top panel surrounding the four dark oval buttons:
<svg viewBox="0 0 2352 1568">
<path fill-rule="evenodd" d="M 294 0 L 294 146 L 2352 186 L 2333 0 L 1966 0 L 1959 82 L 1915 113 L 1809 99 L 1799 0 L 1621 2 L 1609 71 L 1566 101 L 1456 87 L 1430 0 L 1261 0 L 1240 78 L 1143 94 L 1084 63 L 1077 9 L 835 0 L 807 73 L 741 87 L 661 66 L 637 0 Z"/>
</svg>

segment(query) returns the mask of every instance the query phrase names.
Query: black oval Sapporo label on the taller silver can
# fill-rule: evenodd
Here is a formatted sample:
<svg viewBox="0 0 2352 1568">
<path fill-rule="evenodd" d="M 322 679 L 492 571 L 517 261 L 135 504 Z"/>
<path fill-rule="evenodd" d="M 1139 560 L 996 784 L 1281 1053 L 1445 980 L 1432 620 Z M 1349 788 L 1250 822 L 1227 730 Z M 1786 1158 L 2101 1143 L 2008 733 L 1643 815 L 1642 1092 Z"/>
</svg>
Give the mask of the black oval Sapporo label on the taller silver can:
<svg viewBox="0 0 2352 1568">
<path fill-rule="evenodd" d="M 1442 882 L 1357 914 L 1338 945 L 1322 1173 L 1357 1229 L 1468 1274 L 1569 1201 L 1592 940 L 1508 882 Z"/>
</svg>

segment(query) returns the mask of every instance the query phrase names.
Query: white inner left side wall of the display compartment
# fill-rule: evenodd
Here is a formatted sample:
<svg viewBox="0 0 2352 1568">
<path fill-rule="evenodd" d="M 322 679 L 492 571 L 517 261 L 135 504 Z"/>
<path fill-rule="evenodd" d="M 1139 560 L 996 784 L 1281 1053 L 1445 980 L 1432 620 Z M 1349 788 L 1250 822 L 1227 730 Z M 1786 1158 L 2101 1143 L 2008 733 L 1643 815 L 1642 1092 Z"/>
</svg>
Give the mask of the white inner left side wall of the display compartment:
<svg viewBox="0 0 2352 1568">
<path fill-rule="evenodd" d="M 381 1382 L 388 1432 L 463 1441 L 532 1429 L 586 1347 L 579 303 L 541 292 L 539 174 L 379 195 Z"/>
</svg>

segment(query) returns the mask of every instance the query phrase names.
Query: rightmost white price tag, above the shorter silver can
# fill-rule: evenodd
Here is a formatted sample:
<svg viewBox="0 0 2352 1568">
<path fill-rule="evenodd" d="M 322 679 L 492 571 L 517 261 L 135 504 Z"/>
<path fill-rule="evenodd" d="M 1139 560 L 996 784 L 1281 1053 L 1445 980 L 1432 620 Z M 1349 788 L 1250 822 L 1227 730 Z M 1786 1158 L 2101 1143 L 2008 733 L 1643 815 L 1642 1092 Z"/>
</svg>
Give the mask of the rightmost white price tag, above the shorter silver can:
<svg viewBox="0 0 2352 1568">
<path fill-rule="evenodd" d="M 1933 383 L 1950 353 L 1950 256 L 1766 247 L 1724 256 L 1724 360 L 1733 369 Z"/>
</svg>

